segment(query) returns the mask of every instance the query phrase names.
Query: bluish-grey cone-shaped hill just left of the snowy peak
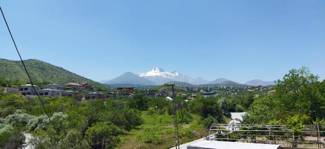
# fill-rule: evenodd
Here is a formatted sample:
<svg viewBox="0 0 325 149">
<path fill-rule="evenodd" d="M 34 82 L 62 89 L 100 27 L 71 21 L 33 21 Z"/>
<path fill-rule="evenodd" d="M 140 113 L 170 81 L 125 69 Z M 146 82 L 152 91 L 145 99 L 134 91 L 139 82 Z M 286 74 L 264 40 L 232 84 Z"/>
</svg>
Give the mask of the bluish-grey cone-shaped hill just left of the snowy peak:
<svg viewBox="0 0 325 149">
<path fill-rule="evenodd" d="M 127 72 L 106 82 L 105 84 L 153 85 L 154 83 L 146 78 Z"/>
</svg>

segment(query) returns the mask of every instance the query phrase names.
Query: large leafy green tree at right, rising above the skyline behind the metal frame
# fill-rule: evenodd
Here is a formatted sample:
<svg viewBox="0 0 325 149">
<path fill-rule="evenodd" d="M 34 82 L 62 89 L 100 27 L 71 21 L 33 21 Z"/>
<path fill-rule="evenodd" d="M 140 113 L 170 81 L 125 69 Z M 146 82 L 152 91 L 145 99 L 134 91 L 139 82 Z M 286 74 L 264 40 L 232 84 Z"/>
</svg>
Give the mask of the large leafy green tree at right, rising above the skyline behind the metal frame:
<svg viewBox="0 0 325 149">
<path fill-rule="evenodd" d="M 276 96 L 282 112 L 290 111 L 289 115 L 307 114 L 313 120 L 324 118 L 325 99 L 319 90 L 318 76 L 310 74 L 307 67 L 292 69 L 277 80 Z"/>
</svg>

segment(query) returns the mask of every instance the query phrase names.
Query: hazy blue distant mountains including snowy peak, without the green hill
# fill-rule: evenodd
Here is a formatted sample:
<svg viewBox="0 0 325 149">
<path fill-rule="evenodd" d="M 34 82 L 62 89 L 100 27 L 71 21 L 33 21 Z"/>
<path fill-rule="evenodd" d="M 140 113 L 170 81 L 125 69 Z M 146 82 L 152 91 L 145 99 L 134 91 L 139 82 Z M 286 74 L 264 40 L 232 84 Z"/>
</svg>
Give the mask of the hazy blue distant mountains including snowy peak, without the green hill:
<svg viewBox="0 0 325 149">
<path fill-rule="evenodd" d="M 167 82 L 185 82 L 193 85 L 204 85 L 204 84 L 220 84 L 220 85 L 242 85 L 240 83 L 231 81 L 226 78 L 218 78 L 213 81 L 205 80 L 202 77 L 196 79 L 191 78 L 187 75 L 182 75 L 177 71 L 165 72 L 162 68 L 155 67 L 145 73 L 138 73 L 137 75 L 130 72 L 124 73 L 109 81 L 100 81 L 104 84 L 133 84 L 133 85 L 162 85 Z M 269 86 L 275 85 L 273 81 L 262 81 L 262 80 L 251 80 L 244 85 L 250 86 Z"/>
</svg>

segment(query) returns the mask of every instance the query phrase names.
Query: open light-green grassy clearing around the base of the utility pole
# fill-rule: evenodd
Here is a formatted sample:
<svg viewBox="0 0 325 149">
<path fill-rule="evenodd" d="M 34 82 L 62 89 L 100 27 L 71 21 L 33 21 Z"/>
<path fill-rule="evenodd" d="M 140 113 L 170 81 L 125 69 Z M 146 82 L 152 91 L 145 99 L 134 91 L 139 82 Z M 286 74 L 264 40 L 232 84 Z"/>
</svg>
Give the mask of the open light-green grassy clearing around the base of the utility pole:
<svg viewBox="0 0 325 149">
<path fill-rule="evenodd" d="M 125 132 L 121 149 L 168 149 L 175 146 L 174 116 L 158 111 L 142 112 L 143 124 L 136 130 Z M 179 124 L 179 142 L 184 144 L 202 138 L 205 128 L 199 124 L 199 116 L 189 124 Z M 193 131 L 199 134 L 194 134 Z"/>
</svg>

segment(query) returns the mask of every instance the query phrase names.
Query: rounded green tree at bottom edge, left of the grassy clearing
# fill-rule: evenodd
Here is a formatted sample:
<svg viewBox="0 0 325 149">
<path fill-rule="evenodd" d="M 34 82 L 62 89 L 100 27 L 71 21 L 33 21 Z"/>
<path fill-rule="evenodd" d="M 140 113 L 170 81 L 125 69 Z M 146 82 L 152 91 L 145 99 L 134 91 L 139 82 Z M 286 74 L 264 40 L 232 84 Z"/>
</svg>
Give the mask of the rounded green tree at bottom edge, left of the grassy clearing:
<svg viewBox="0 0 325 149">
<path fill-rule="evenodd" d="M 85 135 L 93 149 L 100 149 L 102 147 L 104 137 L 107 144 L 106 147 L 113 149 L 121 143 L 121 133 L 122 131 L 117 126 L 106 121 L 94 124 L 86 131 Z"/>
</svg>

